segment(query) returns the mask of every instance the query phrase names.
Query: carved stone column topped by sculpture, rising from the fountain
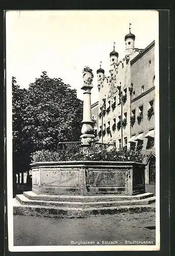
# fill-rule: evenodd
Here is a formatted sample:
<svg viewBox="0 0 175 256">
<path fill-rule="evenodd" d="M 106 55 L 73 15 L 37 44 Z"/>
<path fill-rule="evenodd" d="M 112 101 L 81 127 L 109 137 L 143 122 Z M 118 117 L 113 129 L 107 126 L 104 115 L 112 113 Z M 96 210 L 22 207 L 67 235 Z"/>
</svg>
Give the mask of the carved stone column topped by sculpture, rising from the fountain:
<svg viewBox="0 0 175 256">
<path fill-rule="evenodd" d="M 84 94 L 84 101 L 83 101 L 83 121 L 82 121 L 82 135 L 81 135 L 81 141 L 82 146 L 87 147 L 90 146 L 90 143 L 94 139 L 93 134 L 93 121 L 91 119 L 91 89 L 93 88 L 92 85 L 93 80 L 93 73 L 92 70 L 89 67 L 84 67 L 83 70 L 83 81 L 84 84 L 81 87 Z"/>
</svg>

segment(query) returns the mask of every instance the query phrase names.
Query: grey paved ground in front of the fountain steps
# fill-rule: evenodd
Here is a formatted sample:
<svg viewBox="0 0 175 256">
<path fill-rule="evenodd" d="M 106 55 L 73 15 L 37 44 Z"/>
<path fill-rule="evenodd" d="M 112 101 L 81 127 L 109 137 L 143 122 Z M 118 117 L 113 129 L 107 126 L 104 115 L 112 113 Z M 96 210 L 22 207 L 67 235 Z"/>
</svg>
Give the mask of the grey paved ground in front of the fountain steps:
<svg viewBox="0 0 175 256">
<path fill-rule="evenodd" d="M 151 229 L 147 229 L 151 226 Z M 155 212 L 59 219 L 14 216 L 14 245 L 71 245 L 70 241 L 153 241 Z"/>
</svg>

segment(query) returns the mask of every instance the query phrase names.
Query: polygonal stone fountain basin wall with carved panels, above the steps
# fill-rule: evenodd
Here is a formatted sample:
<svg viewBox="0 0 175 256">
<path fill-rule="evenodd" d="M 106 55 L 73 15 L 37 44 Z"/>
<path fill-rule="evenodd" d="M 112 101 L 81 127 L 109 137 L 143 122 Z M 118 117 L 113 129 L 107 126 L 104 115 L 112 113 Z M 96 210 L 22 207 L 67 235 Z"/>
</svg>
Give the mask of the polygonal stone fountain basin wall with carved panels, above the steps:
<svg viewBox="0 0 175 256">
<path fill-rule="evenodd" d="M 42 195 L 137 195 L 145 193 L 143 163 L 115 161 L 36 162 L 32 191 Z"/>
</svg>

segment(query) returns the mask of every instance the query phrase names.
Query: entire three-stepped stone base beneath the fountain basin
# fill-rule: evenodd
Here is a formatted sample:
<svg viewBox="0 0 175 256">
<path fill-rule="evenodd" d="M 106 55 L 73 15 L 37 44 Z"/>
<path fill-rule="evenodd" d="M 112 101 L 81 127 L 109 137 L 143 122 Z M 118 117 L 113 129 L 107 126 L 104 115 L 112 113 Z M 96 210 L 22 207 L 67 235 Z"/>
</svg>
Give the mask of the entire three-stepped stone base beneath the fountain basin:
<svg viewBox="0 0 175 256">
<path fill-rule="evenodd" d="M 119 212 L 155 211 L 152 193 L 136 196 L 51 196 L 32 191 L 14 199 L 14 215 L 85 218 Z"/>
</svg>

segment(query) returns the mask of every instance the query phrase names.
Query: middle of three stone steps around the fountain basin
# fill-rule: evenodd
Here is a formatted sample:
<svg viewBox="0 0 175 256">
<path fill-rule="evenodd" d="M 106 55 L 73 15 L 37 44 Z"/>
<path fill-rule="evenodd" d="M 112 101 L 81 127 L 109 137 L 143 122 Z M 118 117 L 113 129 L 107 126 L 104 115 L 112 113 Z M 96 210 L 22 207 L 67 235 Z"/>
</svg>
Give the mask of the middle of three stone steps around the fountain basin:
<svg viewBox="0 0 175 256">
<path fill-rule="evenodd" d="M 68 202 L 68 201 L 46 201 L 46 200 L 30 200 L 24 195 L 16 195 L 16 199 L 20 204 L 40 205 L 40 206 L 56 206 L 66 208 L 92 208 L 92 207 L 117 207 L 120 205 L 148 205 L 156 201 L 155 197 L 145 198 L 141 200 L 123 200 L 123 201 L 103 201 L 101 202 Z"/>
</svg>

